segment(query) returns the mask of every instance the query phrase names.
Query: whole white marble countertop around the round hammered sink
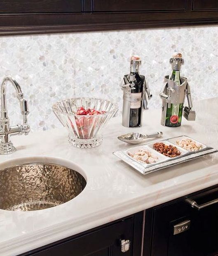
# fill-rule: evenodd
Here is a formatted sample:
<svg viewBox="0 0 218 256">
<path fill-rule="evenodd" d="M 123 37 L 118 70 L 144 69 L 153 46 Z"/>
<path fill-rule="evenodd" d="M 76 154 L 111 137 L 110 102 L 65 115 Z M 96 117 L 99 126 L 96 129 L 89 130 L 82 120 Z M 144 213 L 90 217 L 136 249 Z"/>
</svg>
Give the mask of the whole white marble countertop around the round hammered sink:
<svg viewBox="0 0 218 256">
<path fill-rule="evenodd" d="M 115 117 L 105 129 L 103 144 L 92 149 L 70 146 L 64 128 L 14 136 L 17 151 L 0 155 L 0 169 L 24 162 L 58 163 L 82 173 L 87 186 L 73 200 L 54 208 L 28 212 L 0 210 L 0 255 L 18 255 L 218 184 L 217 154 L 145 176 L 112 154 L 131 147 L 117 139 L 130 131 L 162 131 L 163 139 L 188 135 L 218 148 L 218 99 L 199 101 L 195 109 L 197 120 L 188 122 L 183 118 L 182 126 L 176 128 L 160 125 L 161 110 L 145 111 L 141 128 L 122 127 L 121 118 Z"/>
</svg>

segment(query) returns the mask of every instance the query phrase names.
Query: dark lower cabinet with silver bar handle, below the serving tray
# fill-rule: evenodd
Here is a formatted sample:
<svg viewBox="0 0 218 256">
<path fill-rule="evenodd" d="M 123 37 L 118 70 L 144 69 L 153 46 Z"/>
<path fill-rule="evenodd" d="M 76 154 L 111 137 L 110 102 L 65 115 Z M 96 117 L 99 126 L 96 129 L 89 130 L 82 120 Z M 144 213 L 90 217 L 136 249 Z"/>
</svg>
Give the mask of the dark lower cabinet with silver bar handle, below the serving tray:
<svg viewBox="0 0 218 256">
<path fill-rule="evenodd" d="M 218 203 L 207 205 L 217 199 L 215 187 L 148 209 L 143 256 L 217 256 Z M 191 200 L 205 207 L 192 208 Z"/>
</svg>

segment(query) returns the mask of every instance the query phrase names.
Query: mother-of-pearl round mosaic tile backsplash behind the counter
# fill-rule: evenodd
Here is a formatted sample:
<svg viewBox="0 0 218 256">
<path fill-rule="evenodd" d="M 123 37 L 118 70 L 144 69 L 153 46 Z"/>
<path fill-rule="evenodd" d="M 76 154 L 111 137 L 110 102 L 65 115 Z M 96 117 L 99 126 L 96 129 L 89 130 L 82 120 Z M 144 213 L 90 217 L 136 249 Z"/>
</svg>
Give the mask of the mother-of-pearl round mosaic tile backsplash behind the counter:
<svg viewBox="0 0 218 256">
<path fill-rule="evenodd" d="M 204 26 L 0 37 L 0 78 L 11 74 L 20 82 L 32 131 L 61 127 L 52 112 L 61 99 L 100 97 L 117 102 L 121 111 L 119 85 L 132 54 L 142 59 L 141 74 L 153 93 L 150 109 L 161 107 L 159 91 L 175 49 L 183 53 L 181 75 L 188 78 L 193 100 L 212 98 L 218 96 L 217 34 L 218 26 Z M 11 85 L 7 105 L 11 124 L 21 122 Z"/>
</svg>

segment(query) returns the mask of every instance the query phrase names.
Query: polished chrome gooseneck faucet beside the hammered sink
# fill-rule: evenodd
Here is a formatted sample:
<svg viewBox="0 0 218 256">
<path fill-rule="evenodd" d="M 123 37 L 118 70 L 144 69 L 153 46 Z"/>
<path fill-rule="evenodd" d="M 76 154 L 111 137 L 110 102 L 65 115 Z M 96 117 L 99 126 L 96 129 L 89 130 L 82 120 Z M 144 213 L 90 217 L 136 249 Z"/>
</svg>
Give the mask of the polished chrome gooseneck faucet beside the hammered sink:
<svg viewBox="0 0 218 256">
<path fill-rule="evenodd" d="M 6 85 L 7 82 L 11 82 L 14 85 L 16 90 L 17 99 L 20 101 L 21 114 L 23 115 L 23 124 L 17 124 L 16 126 L 10 127 L 9 117 L 7 115 L 6 107 Z M 30 127 L 27 124 L 27 115 L 28 115 L 28 102 L 23 97 L 21 87 L 18 82 L 11 76 L 6 76 L 1 85 L 1 118 L 0 118 L 0 154 L 10 154 L 16 150 L 12 141 L 10 140 L 11 135 L 16 134 L 25 134 L 27 135 L 30 131 Z"/>
</svg>

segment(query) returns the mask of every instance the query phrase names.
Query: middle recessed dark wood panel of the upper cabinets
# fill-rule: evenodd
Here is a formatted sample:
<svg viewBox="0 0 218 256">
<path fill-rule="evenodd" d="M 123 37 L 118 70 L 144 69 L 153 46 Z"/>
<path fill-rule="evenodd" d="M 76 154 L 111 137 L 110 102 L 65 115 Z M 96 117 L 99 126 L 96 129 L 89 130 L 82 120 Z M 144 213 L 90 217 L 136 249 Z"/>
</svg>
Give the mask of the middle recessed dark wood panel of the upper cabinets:
<svg viewBox="0 0 218 256">
<path fill-rule="evenodd" d="M 185 0 L 94 0 L 93 12 L 158 12 L 185 10 Z"/>
</svg>

